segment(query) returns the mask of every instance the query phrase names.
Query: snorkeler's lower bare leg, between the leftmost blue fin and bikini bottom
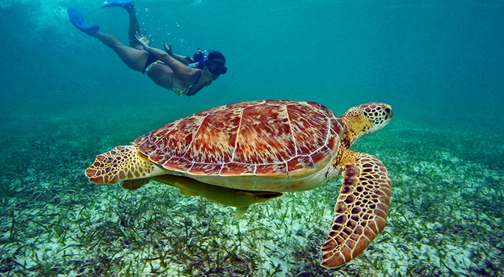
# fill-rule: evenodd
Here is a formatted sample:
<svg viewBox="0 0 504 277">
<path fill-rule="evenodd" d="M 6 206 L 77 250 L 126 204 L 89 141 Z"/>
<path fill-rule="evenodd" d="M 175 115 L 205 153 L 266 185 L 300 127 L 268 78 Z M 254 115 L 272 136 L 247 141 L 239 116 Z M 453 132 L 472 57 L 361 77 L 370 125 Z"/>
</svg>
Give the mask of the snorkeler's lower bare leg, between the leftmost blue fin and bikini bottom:
<svg viewBox="0 0 504 277">
<path fill-rule="evenodd" d="M 142 72 L 142 70 L 144 69 L 145 63 L 147 62 L 147 57 L 149 56 L 149 53 L 147 51 L 126 46 L 122 44 L 118 39 L 108 34 L 92 32 L 89 33 L 89 35 L 99 39 L 101 42 L 103 42 L 103 44 L 114 50 L 114 52 L 121 58 L 121 60 L 132 70 Z"/>
</svg>

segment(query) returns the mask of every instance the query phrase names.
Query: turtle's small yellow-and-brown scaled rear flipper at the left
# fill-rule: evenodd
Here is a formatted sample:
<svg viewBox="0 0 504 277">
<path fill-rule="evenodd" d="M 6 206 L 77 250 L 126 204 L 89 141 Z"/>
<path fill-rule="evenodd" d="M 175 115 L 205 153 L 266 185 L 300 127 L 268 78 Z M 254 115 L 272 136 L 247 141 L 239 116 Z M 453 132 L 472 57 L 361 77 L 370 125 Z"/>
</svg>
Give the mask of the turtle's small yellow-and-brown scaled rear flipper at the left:
<svg viewBox="0 0 504 277">
<path fill-rule="evenodd" d="M 166 170 L 149 161 L 133 145 L 118 146 L 96 156 L 95 162 L 86 169 L 86 176 L 97 184 L 115 184 L 119 181 L 149 178 L 165 173 Z"/>
</svg>

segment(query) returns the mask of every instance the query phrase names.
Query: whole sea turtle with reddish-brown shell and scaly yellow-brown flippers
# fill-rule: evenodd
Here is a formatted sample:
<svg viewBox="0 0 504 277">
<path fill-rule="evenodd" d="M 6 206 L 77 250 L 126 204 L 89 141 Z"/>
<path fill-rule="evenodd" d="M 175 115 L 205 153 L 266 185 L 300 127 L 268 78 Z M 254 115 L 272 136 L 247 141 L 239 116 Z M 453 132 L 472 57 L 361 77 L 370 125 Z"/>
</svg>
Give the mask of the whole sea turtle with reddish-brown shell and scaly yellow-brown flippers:
<svg viewBox="0 0 504 277">
<path fill-rule="evenodd" d="M 150 178 L 178 182 L 182 185 L 175 186 L 190 195 L 201 194 L 203 184 L 208 187 L 203 193 L 215 189 L 211 197 L 202 194 L 211 200 L 228 204 L 235 200 L 228 193 L 248 195 L 242 204 L 248 206 L 281 192 L 319 187 L 341 174 L 336 215 L 322 246 L 321 265 L 335 268 L 385 228 L 392 188 L 387 169 L 376 157 L 349 147 L 392 116 L 383 103 L 355 106 L 339 118 L 314 102 L 235 103 L 175 120 L 133 145 L 98 155 L 86 175 L 94 183 L 123 181 L 130 189 Z"/>
</svg>

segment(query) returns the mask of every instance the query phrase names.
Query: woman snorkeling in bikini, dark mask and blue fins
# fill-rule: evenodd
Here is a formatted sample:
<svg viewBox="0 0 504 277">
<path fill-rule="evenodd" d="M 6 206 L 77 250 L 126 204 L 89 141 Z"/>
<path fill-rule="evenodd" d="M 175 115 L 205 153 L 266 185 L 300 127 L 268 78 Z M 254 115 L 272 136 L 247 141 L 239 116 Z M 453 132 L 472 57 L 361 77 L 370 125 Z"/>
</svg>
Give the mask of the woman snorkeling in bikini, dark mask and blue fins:
<svg viewBox="0 0 504 277">
<path fill-rule="evenodd" d="M 199 50 L 193 58 L 176 55 L 163 40 L 166 52 L 150 47 L 151 36 L 142 33 L 132 0 L 111 0 L 102 8 L 121 7 L 130 15 L 130 46 L 115 37 L 100 33 L 97 25 L 88 26 L 82 14 L 74 9 L 67 10 L 70 21 L 84 33 L 99 39 L 110 47 L 132 70 L 142 72 L 157 85 L 172 90 L 177 95 L 195 95 L 209 86 L 220 75 L 227 72 L 226 59 L 218 51 Z"/>
</svg>

